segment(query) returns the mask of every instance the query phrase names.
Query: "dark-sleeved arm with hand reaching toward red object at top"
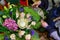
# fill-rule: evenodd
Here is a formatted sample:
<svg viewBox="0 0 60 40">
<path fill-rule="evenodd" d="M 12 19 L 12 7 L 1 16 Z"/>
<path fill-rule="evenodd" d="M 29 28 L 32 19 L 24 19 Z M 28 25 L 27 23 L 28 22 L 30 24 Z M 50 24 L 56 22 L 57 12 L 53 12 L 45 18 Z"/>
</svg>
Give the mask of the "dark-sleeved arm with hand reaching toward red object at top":
<svg viewBox="0 0 60 40">
<path fill-rule="evenodd" d="M 32 4 L 33 7 L 40 7 L 40 8 L 44 8 L 47 9 L 48 8 L 48 0 L 39 0 L 39 1 L 35 1 Z"/>
</svg>

